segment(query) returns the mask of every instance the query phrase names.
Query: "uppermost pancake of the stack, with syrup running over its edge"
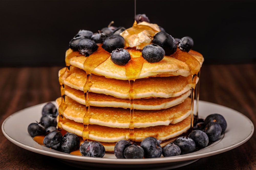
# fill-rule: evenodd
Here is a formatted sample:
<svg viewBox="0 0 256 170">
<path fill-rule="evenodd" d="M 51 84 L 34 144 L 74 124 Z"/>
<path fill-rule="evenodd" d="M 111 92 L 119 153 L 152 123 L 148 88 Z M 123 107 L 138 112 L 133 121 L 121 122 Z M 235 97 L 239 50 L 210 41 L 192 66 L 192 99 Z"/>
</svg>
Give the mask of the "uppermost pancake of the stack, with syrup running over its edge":
<svg viewBox="0 0 256 170">
<path fill-rule="evenodd" d="M 84 64 L 87 59 L 96 60 L 103 56 L 107 59 L 99 63 L 99 66 L 96 68 L 91 69 L 90 73 L 113 79 L 131 80 L 151 76 L 188 76 L 197 74 L 204 61 L 203 56 L 196 51 L 190 50 L 187 53 L 177 48 L 174 54 L 165 56 L 159 62 L 150 63 L 143 59 L 140 50 L 132 48 L 127 49 L 131 55 L 131 60 L 127 64 L 119 66 L 111 61 L 110 53 L 105 51 L 100 44 L 98 44 L 98 46 L 98 50 L 88 57 L 83 56 L 77 51 L 68 49 L 66 51 L 66 65 L 72 65 L 86 71 L 91 67 L 89 64 Z M 142 66 L 139 71 L 135 70 L 138 65 Z M 131 78 L 127 75 L 127 67 L 130 67 L 130 70 L 134 69 L 134 71 L 137 72 L 136 76 Z"/>
</svg>

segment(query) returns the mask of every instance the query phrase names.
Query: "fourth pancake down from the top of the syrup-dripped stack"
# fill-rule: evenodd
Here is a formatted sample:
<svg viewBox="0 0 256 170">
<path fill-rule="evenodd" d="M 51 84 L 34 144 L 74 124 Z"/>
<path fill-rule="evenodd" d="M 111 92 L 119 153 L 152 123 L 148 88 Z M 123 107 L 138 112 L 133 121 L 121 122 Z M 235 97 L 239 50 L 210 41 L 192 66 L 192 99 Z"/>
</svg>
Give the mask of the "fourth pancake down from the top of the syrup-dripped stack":
<svg viewBox="0 0 256 170">
<path fill-rule="evenodd" d="M 83 123 L 83 118 L 86 113 L 86 106 L 71 98 L 65 98 L 66 109 L 63 112 L 69 120 L 74 120 L 78 123 Z M 154 110 L 135 110 L 134 111 L 134 127 L 142 128 L 158 125 L 176 124 L 184 120 L 190 115 L 191 99 L 187 98 L 184 102 L 177 106 L 168 109 Z M 56 100 L 57 105 L 61 103 L 61 98 Z M 96 124 L 101 126 L 129 128 L 130 125 L 130 109 L 112 108 L 112 107 L 93 107 L 90 106 L 90 120 L 89 124 Z"/>
</svg>

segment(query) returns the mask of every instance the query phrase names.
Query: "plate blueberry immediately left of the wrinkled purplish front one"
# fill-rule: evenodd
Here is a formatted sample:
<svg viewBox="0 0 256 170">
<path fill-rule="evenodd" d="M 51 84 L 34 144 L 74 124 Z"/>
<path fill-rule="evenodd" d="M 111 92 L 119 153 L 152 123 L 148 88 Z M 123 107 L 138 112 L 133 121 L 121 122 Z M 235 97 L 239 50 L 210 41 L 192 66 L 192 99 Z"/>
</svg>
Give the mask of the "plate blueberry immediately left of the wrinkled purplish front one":
<svg viewBox="0 0 256 170">
<path fill-rule="evenodd" d="M 79 148 L 80 139 L 74 133 L 67 132 L 62 139 L 61 150 L 65 153 L 70 153 Z"/>
</svg>

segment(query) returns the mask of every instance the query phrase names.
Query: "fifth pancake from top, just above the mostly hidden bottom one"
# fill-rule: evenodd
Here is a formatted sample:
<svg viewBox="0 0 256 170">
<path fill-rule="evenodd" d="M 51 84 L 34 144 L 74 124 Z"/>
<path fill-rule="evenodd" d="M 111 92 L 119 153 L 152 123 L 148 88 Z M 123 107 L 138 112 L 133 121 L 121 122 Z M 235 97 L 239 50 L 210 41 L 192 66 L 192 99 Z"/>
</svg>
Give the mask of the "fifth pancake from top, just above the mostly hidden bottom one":
<svg viewBox="0 0 256 170">
<path fill-rule="evenodd" d="M 78 123 L 69 119 L 65 119 L 60 123 L 62 129 L 82 136 L 83 123 Z M 99 142 L 117 142 L 121 139 L 129 140 L 129 128 L 113 128 L 100 125 L 89 125 L 89 140 Z M 142 141 L 145 136 L 152 136 L 157 139 L 167 140 L 185 133 L 190 128 L 190 116 L 176 124 L 168 126 L 150 126 L 145 128 L 134 128 L 134 140 Z"/>
</svg>

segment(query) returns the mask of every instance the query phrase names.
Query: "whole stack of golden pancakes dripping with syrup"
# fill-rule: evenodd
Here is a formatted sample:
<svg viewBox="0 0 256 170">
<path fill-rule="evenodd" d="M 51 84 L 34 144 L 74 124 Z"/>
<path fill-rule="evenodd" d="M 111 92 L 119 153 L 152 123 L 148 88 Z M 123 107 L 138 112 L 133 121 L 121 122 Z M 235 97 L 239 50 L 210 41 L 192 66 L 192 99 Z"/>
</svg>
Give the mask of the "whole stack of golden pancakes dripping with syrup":
<svg viewBox="0 0 256 170">
<path fill-rule="evenodd" d="M 192 75 L 204 58 L 196 51 L 177 49 L 150 63 L 141 50 L 126 48 L 131 60 L 114 64 L 101 44 L 88 57 L 66 51 L 66 66 L 59 71 L 62 97 L 58 127 L 99 141 L 107 152 L 121 139 L 142 141 L 152 136 L 166 145 L 185 133 L 191 123 Z"/>
</svg>

